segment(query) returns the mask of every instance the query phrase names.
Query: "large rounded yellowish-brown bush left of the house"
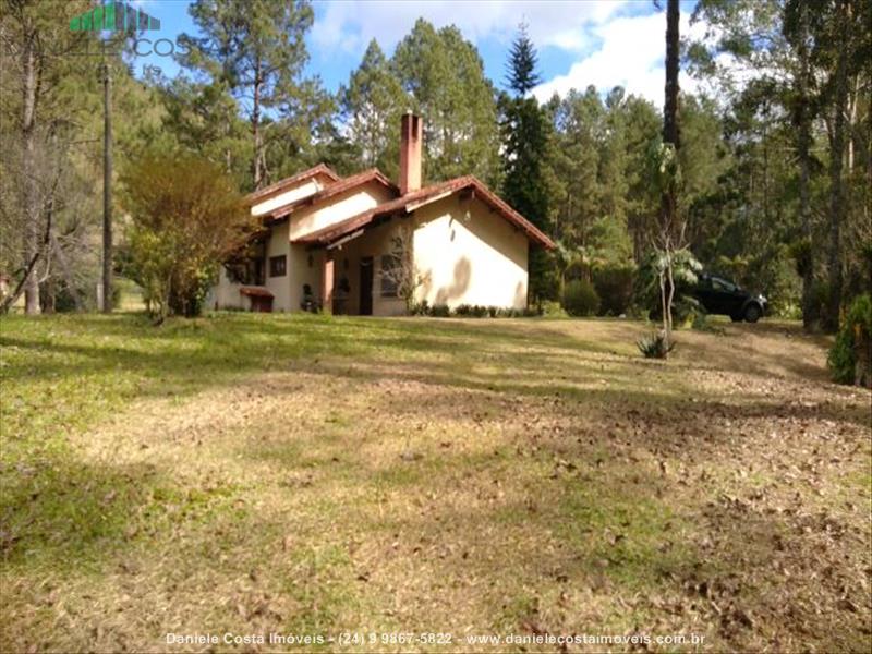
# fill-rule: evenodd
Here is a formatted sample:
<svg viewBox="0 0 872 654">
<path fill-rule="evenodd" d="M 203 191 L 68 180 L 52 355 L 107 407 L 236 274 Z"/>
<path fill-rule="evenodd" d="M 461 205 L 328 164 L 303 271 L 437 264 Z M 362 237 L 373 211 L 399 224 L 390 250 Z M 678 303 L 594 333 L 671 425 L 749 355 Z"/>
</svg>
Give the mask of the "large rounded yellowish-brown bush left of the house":
<svg viewBox="0 0 872 654">
<path fill-rule="evenodd" d="M 221 262 L 244 244 L 254 219 L 230 178 L 193 155 L 136 159 L 121 175 L 130 272 L 149 312 L 195 316 Z"/>
</svg>

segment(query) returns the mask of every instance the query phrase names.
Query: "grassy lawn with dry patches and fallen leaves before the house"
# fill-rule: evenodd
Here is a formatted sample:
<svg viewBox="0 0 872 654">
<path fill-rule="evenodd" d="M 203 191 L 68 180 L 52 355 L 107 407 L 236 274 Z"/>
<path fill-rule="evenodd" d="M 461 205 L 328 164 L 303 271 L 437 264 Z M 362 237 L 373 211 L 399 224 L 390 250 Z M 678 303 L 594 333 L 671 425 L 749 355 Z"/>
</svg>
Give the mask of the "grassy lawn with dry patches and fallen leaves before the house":
<svg viewBox="0 0 872 654">
<path fill-rule="evenodd" d="M 792 327 L 682 334 L 668 364 L 618 322 L 0 329 L 0 650 L 872 638 L 870 397 L 828 385 Z"/>
</svg>

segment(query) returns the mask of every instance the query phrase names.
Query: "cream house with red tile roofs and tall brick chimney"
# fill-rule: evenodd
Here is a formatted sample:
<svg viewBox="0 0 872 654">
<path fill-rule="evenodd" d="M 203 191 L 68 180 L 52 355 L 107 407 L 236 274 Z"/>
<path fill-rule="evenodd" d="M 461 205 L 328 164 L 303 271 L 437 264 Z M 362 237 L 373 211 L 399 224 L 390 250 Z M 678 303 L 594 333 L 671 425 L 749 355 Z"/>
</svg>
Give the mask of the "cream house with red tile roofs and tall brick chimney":
<svg viewBox="0 0 872 654">
<path fill-rule="evenodd" d="M 524 308 L 531 247 L 554 243 L 472 175 L 422 186 L 423 123 L 402 117 L 400 179 L 324 165 L 247 196 L 263 231 L 227 262 L 215 308 L 399 315 L 407 302 Z"/>
</svg>

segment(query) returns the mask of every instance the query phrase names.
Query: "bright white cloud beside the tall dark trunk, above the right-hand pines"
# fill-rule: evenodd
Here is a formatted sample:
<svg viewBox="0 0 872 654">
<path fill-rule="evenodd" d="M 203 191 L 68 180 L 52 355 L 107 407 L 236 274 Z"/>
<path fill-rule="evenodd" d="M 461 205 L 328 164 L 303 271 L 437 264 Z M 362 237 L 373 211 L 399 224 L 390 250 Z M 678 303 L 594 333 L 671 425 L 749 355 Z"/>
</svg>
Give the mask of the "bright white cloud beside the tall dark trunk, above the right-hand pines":
<svg viewBox="0 0 872 654">
<path fill-rule="evenodd" d="M 690 26 L 688 14 L 681 15 L 682 35 L 701 34 L 704 26 Z M 666 16 L 663 12 L 640 16 L 620 16 L 596 25 L 593 34 L 600 47 L 572 64 L 565 75 L 541 84 L 533 94 L 545 101 L 555 93 L 564 96 L 570 88 L 584 90 L 593 84 L 601 92 L 623 86 L 628 94 L 647 98 L 656 106 L 663 105 L 665 84 L 664 57 L 666 51 Z M 679 84 L 685 90 L 694 90 L 697 81 L 681 73 Z"/>
</svg>

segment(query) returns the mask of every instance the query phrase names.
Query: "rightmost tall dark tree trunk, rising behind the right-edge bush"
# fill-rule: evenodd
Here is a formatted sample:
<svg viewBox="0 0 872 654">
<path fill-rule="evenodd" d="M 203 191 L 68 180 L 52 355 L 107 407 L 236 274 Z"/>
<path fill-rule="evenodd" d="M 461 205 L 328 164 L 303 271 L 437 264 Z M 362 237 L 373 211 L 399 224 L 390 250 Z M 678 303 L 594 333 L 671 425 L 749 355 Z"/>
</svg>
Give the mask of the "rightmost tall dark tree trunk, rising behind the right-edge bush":
<svg viewBox="0 0 872 654">
<path fill-rule="evenodd" d="M 838 3 L 839 23 L 848 27 L 849 5 L 846 0 Z M 848 101 L 848 41 L 847 35 L 838 46 L 834 86 L 833 141 L 829 154 L 829 252 L 827 257 L 829 272 L 829 301 L 826 312 L 826 327 L 838 328 L 841 310 L 841 223 L 845 215 L 845 180 L 843 179 L 843 158 L 845 156 L 845 111 Z"/>
</svg>

